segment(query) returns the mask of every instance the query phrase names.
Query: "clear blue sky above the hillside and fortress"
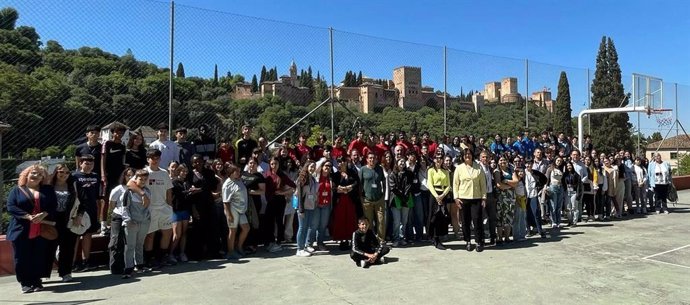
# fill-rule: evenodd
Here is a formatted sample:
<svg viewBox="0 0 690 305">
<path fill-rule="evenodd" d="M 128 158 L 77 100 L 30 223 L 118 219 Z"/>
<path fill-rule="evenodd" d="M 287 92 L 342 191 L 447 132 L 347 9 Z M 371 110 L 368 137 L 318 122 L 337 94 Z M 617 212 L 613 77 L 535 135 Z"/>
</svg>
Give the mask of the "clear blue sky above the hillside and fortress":
<svg viewBox="0 0 690 305">
<path fill-rule="evenodd" d="M 115 54 L 130 48 L 140 60 L 168 65 L 168 2 L 3 3 L 16 7 L 18 23 L 36 27 L 43 41 L 55 39 L 67 48 L 97 46 Z M 547 87 L 555 97 L 558 75 L 566 71 L 575 115 L 586 107 L 588 79 L 593 78 L 599 42 L 606 35 L 615 42 L 626 91 L 631 90 L 631 73 L 643 73 L 666 81 L 665 107 L 673 107 L 675 82 L 681 84 L 679 103 L 690 100 L 687 1 L 175 3 L 175 64 L 183 62 L 187 75 L 211 77 L 218 64 L 221 73 L 241 73 L 249 80 L 263 64 L 287 74 L 293 59 L 300 68 L 311 65 L 314 73 L 329 75 L 327 28 L 332 27 L 336 82 L 347 70 L 392 78 L 393 68 L 412 65 L 422 67 L 425 85 L 442 90 L 445 45 L 449 93 L 481 90 L 485 82 L 515 76 L 521 93 Z M 679 113 L 681 122 L 684 114 Z M 636 123 L 635 115 L 631 119 Z M 656 130 L 654 118 L 644 116 L 642 132 Z"/>
</svg>

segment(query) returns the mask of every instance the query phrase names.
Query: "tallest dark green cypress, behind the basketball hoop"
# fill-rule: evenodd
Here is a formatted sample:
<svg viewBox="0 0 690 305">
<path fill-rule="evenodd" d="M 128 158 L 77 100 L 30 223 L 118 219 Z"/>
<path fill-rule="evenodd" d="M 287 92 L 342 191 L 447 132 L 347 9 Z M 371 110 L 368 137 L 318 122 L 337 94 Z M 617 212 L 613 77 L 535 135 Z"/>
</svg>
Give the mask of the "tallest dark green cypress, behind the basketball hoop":
<svg viewBox="0 0 690 305">
<path fill-rule="evenodd" d="M 592 81 L 592 108 L 625 107 L 628 104 L 613 40 L 601 38 L 597 54 L 597 68 Z M 595 114 L 591 116 L 592 142 L 603 152 L 631 149 L 630 123 L 627 113 Z"/>
</svg>

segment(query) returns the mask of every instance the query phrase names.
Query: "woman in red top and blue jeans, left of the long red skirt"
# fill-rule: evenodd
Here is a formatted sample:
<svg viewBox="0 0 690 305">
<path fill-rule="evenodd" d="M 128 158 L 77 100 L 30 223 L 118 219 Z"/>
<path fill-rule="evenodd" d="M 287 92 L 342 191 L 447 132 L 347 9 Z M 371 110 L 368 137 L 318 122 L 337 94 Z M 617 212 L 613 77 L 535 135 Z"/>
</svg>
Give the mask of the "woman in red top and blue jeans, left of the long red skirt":
<svg viewBox="0 0 690 305">
<path fill-rule="evenodd" d="M 316 233 L 316 244 L 319 251 L 328 251 L 323 243 L 328 220 L 331 217 L 333 202 L 333 190 L 335 185 L 331 175 L 333 174 L 333 162 L 326 160 L 316 168 L 316 180 L 319 182 L 319 191 L 316 194 L 316 208 L 312 217 L 311 227 Z"/>
</svg>

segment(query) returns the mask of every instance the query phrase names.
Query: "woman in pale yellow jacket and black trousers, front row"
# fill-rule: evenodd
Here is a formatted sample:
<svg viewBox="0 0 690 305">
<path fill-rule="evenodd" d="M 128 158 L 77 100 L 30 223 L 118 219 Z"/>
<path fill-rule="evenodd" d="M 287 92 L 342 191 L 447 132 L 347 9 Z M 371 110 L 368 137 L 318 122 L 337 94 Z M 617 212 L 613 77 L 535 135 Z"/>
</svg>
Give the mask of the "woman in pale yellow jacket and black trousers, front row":
<svg viewBox="0 0 690 305">
<path fill-rule="evenodd" d="M 467 251 L 472 251 L 470 242 L 470 220 L 474 223 L 477 252 L 484 250 L 484 223 L 482 209 L 486 206 L 486 177 L 481 166 L 474 162 L 474 154 L 469 149 L 463 150 L 464 162 L 455 168 L 453 174 L 453 198 L 460 209 L 464 210 L 462 237 L 467 243 Z"/>
</svg>

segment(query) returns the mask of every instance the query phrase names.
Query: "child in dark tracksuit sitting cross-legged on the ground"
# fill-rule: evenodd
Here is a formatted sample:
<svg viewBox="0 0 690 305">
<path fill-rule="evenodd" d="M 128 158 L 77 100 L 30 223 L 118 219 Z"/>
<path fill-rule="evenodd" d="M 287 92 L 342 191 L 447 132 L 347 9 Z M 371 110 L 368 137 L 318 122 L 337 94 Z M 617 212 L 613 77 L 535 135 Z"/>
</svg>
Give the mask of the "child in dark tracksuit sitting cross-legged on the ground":
<svg viewBox="0 0 690 305">
<path fill-rule="evenodd" d="M 350 258 L 357 267 L 369 268 L 371 264 L 380 264 L 390 248 L 381 245 L 376 234 L 369 228 L 369 219 L 362 217 L 357 221 L 357 231 L 352 233 L 352 252 Z"/>
</svg>

